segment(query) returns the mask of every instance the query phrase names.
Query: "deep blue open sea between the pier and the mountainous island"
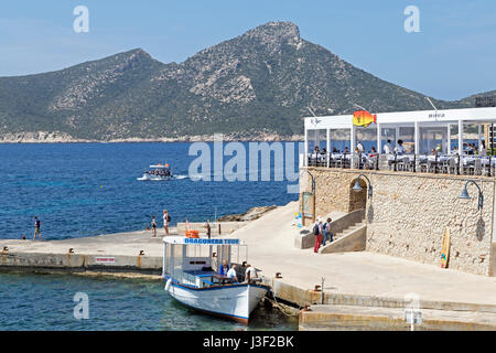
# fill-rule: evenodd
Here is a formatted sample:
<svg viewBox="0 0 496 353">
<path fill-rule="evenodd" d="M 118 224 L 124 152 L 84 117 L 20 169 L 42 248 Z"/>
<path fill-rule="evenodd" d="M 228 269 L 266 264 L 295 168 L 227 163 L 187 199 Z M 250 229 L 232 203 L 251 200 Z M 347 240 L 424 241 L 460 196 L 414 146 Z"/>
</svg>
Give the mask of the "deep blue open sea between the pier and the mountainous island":
<svg viewBox="0 0 496 353">
<path fill-rule="evenodd" d="M 143 229 L 151 215 L 161 226 L 163 208 L 172 223 L 186 217 L 205 222 L 215 214 L 298 200 L 298 194 L 288 194 L 287 182 L 273 176 L 269 182 L 194 181 L 187 174 L 196 156 L 190 157 L 188 148 L 190 143 L 0 145 L 0 238 L 32 236 L 34 215 L 42 221 L 45 238 L 63 239 Z M 136 180 L 150 164 L 165 162 L 180 180 Z"/>
</svg>

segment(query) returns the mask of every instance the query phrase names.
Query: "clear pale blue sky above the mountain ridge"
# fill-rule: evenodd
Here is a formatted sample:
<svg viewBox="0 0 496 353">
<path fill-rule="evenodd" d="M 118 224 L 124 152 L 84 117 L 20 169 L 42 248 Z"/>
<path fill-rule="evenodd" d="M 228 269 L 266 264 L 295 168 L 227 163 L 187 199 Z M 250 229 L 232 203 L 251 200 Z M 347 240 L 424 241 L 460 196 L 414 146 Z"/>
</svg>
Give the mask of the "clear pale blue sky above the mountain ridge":
<svg viewBox="0 0 496 353">
<path fill-rule="evenodd" d="M 89 33 L 75 33 L 76 6 Z M 405 8 L 420 10 L 407 33 Z M 270 21 L 292 21 L 301 36 L 393 84 L 440 99 L 496 89 L 494 0 L 43 0 L 0 4 L 0 76 L 61 69 L 142 47 L 163 62 Z"/>
</svg>

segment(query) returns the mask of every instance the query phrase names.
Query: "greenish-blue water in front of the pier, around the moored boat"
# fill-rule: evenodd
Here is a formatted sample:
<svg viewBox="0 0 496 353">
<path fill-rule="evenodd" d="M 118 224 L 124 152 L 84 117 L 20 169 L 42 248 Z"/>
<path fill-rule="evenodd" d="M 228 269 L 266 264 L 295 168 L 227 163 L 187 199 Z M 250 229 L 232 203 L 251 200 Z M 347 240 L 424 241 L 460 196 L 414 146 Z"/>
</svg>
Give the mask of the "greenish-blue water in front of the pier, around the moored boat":
<svg viewBox="0 0 496 353">
<path fill-rule="evenodd" d="M 75 275 L 0 274 L 0 330 L 237 331 L 298 330 L 298 318 L 260 306 L 248 327 L 188 309 L 161 281 Z M 74 318 L 76 292 L 89 299 L 89 319 Z"/>
</svg>

